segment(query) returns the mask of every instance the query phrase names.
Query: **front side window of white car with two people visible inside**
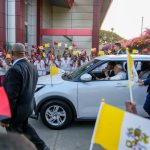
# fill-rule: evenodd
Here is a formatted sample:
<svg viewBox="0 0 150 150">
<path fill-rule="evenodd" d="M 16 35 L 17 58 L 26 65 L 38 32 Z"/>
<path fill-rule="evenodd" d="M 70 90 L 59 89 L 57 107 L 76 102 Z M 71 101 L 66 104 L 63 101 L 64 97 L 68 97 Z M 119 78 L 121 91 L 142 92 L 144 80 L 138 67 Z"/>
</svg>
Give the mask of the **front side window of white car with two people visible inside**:
<svg viewBox="0 0 150 150">
<path fill-rule="evenodd" d="M 127 80 L 126 61 L 107 61 L 89 72 L 93 81 Z"/>
</svg>

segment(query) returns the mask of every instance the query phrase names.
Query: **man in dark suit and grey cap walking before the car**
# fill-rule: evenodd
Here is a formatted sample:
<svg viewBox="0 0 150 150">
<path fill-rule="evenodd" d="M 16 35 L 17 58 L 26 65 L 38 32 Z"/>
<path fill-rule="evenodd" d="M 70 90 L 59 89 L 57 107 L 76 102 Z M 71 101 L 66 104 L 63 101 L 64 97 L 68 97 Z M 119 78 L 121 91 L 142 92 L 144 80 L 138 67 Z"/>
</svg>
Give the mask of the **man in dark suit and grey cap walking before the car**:
<svg viewBox="0 0 150 150">
<path fill-rule="evenodd" d="M 35 144 L 38 150 L 49 150 L 28 123 L 28 118 L 35 107 L 34 91 L 38 80 L 38 72 L 36 67 L 27 61 L 23 44 L 14 44 L 12 54 L 14 57 L 13 66 L 7 72 L 4 80 L 4 88 L 9 99 L 12 118 L 3 121 L 1 125 L 5 126 L 8 132 L 24 134 Z"/>
</svg>

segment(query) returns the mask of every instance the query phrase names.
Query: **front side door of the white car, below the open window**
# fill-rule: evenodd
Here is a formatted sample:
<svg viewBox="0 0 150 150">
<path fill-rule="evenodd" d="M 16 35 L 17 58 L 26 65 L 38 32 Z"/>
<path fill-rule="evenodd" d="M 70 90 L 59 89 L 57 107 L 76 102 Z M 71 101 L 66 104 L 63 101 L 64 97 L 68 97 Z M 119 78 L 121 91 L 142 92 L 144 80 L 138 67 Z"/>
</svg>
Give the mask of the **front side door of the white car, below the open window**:
<svg viewBox="0 0 150 150">
<path fill-rule="evenodd" d="M 113 106 L 125 109 L 129 100 L 128 81 L 95 80 L 78 82 L 78 115 L 80 118 L 95 118 L 101 99 Z"/>
</svg>

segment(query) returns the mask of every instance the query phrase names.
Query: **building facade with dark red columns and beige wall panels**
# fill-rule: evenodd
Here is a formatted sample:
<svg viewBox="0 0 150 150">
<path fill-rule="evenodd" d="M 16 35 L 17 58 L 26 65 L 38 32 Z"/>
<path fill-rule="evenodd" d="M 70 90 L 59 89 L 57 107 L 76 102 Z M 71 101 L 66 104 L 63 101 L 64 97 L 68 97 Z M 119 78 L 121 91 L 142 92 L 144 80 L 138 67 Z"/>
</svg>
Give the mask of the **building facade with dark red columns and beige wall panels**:
<svg viewBox="0 0 150 150">
<path fill-rule="evenodd" d="M 99 29 L 111 1 L 0 0 L 0 46 L 40 45 L 69 36 L 82 48 L 98 50 Z"/>
</svg>

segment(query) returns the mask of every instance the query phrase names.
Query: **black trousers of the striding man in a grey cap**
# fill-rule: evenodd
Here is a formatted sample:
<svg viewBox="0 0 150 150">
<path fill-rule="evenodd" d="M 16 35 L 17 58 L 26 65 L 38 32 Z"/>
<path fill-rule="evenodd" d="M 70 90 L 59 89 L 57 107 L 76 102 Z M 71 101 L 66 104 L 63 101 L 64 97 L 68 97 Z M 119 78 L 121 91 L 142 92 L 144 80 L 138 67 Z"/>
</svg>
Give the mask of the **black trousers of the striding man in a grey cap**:
<svg viewBox="0 0 150 150">
<path fill-rule="evenodd" d="M 44 150 L 46 144 L 38 134 L 35 129 L 28 123 L 28 120 L 23 122 L 22 124 L 16 125 L 11 123 L 8 128 L 6 128 L 7 132 L 15 132 L 19 134 L 24 134 L 35 146 L 38 150 Z"/>
</svg>

